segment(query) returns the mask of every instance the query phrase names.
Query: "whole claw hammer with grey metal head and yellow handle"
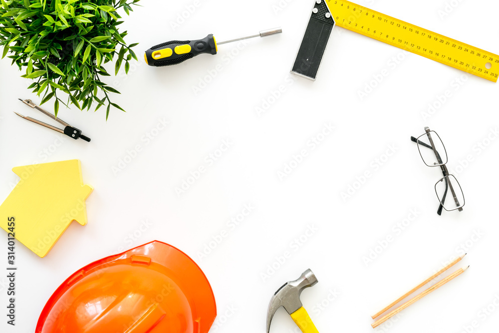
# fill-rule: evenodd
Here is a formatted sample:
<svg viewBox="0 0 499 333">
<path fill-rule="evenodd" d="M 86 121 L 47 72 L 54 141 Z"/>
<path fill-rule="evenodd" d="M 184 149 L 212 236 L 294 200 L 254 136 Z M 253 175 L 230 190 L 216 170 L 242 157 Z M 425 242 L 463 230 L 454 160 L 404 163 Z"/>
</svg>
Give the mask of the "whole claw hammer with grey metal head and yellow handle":
<svg viewBox="0 0 499 333">
<path fill-rule="evenodd" d="M 280 307 L 284 307 L 301 332 L 319 333 L 300 301 L 303 289 L 312 287 L 317 282 L 315 275 L 308 269 L 297 280 L 286 282 L 284 286 L 275 292 L 268 305 L 267 333 L 270 331 L 270 322 L 274 317 L 275 311 Z"/>
</svg>

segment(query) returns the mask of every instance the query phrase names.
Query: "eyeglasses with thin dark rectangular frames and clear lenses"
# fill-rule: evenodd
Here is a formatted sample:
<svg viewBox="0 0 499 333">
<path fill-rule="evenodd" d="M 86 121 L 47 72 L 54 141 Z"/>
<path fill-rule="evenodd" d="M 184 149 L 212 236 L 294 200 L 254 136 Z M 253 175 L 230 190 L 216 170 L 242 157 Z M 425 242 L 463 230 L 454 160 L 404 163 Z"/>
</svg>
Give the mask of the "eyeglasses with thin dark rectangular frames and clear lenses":
<svg viewBox="0 0 499 333">
<path fill-rule="evenodd" d="M 463 211 L 465 197 L 461 185 L 454 175 L 450 175 L 447 170 L 447 151 L 440 136 L 430 128 L 425 127 L 426 133 L 418 137 L 411 136 L 411 140 L 418 144 L 419 154 L 423 162 L 429 167 L 439 166 L 444 177 L 435 184 L 435 192 L 440 201 L 437 214 L 442 215 L 442 208 L 446 211 Z M 451 191 L 452 199 L 446 201 L 448 191 Z"/>
</svg>

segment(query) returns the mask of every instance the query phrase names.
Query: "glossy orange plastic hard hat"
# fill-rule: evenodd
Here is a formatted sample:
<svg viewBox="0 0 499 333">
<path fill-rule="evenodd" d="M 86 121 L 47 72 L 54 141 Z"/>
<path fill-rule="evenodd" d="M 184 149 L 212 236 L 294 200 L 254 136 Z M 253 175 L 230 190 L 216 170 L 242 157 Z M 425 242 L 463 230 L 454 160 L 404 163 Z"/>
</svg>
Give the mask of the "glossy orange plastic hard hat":
<svg viewBox="0 0 499 333">
<path fill-rule="evenodd" d="M 154 241 L 71 275 L 41 312 L 36 333 L 207 333 L 217 316 L 201 269 Z"/>
</svg>

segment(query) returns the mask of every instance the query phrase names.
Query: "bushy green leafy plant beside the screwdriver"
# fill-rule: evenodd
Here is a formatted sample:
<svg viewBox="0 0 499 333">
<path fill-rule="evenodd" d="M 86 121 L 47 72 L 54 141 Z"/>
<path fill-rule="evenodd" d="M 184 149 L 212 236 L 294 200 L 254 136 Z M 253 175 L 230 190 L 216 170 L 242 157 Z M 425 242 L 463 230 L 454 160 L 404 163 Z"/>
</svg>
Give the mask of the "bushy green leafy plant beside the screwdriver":
<svg viewBox="0 0 499 333">
<path fill-rule="evenodd" d="M 109 99 L 109 92 L 119 91 L 101 81 L 109 76 L 102 65 L 117 55 L 116 74 L 123 62 L 128 74 L 129 61 L 137 60 L 132 50 L 137 44 L 127 45 L 127 32 L 118 31 L 123 21 L 116 10 L 129 14 L 138 1 L 0 0 L 2 58 L 10 51 L 12 64 L 25 67 L 22 77 L 35 79 L 29 89 L 42 95 L 40 104 L 55 98 L 56 115 L 59 102 L 87 110 L 95 102 L 95 110 L 107 104 L 107 119 L 111 105 L 124 110 Z M 59 90 L 69 95 L 66 103 Z"/>
</svg>

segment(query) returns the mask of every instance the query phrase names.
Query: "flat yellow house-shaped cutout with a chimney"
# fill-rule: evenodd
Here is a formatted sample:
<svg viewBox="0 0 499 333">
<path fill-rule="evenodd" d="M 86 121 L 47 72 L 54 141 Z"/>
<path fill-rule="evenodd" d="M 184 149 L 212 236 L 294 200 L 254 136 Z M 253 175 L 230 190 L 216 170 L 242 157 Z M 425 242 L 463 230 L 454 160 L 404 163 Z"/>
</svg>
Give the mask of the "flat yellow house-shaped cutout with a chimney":
<svg viewBox="0 0 499 333">
<path fill-rule="evenodd" d="M 93 188 L 83 185 L 79 160 L 15 167 L 21 179 L 0 206 L 0 227 L 15 218 L 15 239 L 41 258 L 72 221 L 87 224 L 85 200 Z"/>
</svg>

